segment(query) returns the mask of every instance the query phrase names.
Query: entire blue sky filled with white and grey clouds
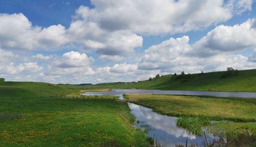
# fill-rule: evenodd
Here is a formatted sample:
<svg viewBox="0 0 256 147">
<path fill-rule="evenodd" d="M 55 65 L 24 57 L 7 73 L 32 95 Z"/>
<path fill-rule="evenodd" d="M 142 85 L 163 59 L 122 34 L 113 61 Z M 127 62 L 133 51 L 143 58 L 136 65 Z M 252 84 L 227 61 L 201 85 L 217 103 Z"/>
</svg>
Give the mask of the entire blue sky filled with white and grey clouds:
<svg viewBox="0 0 256 147">
<path fill-rule="evenodd" d="M 253 0 L 0 1 L 0 77 L 102 83 L 256 68 Z"/>
</svg>

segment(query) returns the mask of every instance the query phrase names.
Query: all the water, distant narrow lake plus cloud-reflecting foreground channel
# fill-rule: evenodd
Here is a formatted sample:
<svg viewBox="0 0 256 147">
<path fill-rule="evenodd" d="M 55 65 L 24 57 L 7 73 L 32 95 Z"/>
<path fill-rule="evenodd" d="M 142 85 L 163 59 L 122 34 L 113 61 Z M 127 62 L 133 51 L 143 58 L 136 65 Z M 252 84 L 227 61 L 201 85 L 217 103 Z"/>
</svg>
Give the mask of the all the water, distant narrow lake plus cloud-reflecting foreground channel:
<svg viewBox="0 0 256 147">
<path fill-rule="evenodd" d="M 256 92 L 212 92 L 212 91 L 180 91 L 180 90 L 141 90 L 141 89 L 115 89 L 115 91 L 105 92 L 86 92 L 83 95 L 114 95 L 120 96 L 123 99 L 125 93 L 152 93 L 152 94 L 176 94 L 176 95 L 208 95 L 217 97 L 243 97 L 255 98 Z M 204 137 L 188 133 L 187 131 L 177 128 L 175 121 L 177 117 L 161 115 L 152 111 L 152 109 L 142 107 L 140 105 L 128 103 L 131 113 L 136 117 L 137 128 L 142 130 L 147 129 L 147 136 L 153 137 L 156 135 L 156 140 L 165 146 L 175 146 L 175 144 L 188 143 L 202 144 Z M 207 135 L 209 141 L 212 141 L 213 136 Z"/>
</svg>

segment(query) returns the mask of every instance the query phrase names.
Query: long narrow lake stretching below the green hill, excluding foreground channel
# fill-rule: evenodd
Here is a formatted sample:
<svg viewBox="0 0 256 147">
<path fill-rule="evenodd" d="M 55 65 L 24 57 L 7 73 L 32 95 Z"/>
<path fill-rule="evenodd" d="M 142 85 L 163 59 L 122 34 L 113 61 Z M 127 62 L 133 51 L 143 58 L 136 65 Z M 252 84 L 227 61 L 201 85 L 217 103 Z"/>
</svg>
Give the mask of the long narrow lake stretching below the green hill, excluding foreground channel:
<svg viewBox="0 0 256 147">
<path fill-rule="evenodd" d="M 175 94 L 175 95 L 207 95 L 216 97 L 242 97 L 256 98 L 256 92 L 215 92 L 215 91 L 182 91 L 182 90 L 142 90 L 142 89 L 114 89 L 105 92 L 86 92 L 84 95 L 115 95 L 121 98 L 125 93 L 152 93 L 152 94 Z"/>
</svg>

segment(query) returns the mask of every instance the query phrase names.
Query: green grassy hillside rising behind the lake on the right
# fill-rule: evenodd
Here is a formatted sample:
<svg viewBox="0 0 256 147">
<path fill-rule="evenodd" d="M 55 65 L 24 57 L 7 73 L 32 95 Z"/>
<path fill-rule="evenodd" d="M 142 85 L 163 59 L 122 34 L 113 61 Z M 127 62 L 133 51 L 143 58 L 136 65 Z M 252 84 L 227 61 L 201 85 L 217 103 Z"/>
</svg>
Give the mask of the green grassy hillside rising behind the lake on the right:
<svg viewBox="0 0 256 147">
<path fill-rule="evenodd" d="M 199 91 L 256 91 L 256 69 L 238 70 L 237 75 L 221 78 L 226 71 L 191 74 L 189 78 L 172 79 L 173 75 L 121 85 L 120 88 Z"/>
</svg>

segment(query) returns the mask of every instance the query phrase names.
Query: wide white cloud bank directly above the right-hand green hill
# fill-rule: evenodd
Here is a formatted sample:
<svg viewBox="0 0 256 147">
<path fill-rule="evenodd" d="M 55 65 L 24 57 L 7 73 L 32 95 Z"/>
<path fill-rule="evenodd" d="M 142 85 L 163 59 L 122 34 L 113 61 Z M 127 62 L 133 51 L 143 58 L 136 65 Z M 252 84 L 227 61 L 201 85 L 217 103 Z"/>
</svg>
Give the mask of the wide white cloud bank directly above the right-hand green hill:
<svg viewBox="0 0 256 147">
<path fill-rule="evenodd" d="M 151 46 L 145 50 L 145 54 L 141 58 L 138 68 L 145 70 L 159 69 L 161 72 L 174 73 L 183 70 L 186 72 L 225 70 L 226 67 L 251 69 L 256 65 L 249 62 L 249 60 L 254 61 L 254 56 L 248 58 L 240 54 L 225 52 L 226 50 L 221 50 L 223 52 L 216 52 L 216 54 L 212 54 L 206 58 L 206 56 L 198 55 L 200 54 L 198 48 L 194 48 L 196 45 L 189 44 L 188 40 L 188 36 L 176 39 L 170 38 L 158 45 Z M 243 49 L 243 46 L 239 48 L 239 50 Z M 210 48 L 209 50 L 216 49 Z"/>
</svg>

